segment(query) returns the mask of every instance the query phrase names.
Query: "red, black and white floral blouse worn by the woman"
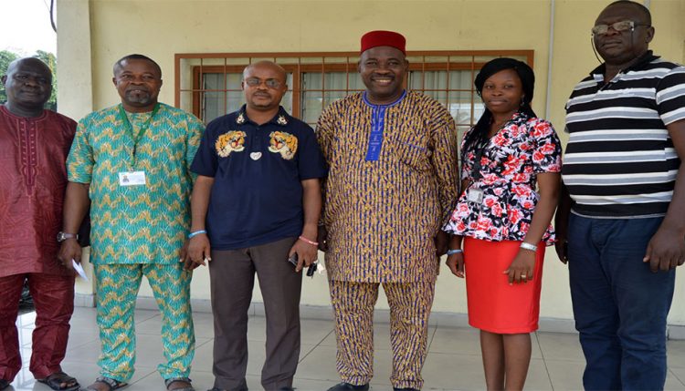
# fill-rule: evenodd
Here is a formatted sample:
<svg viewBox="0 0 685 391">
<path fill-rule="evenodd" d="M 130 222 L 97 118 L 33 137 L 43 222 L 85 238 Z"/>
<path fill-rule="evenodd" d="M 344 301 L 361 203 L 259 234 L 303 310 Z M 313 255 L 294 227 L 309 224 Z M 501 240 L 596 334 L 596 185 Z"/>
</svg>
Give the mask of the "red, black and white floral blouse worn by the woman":
<svg viewBox="0 0 685 391">
<path fill-rule="evenodd" d="M 462 140 L 461 150 L 466 157 L 461 178 L 470 184 L 462 190 L 443 230 L 490 242 L 522 241 L 540 197 L 535 190 L 537 174 L 560 172 L 562 168 L 561 142 L 552 124 L 515 114 L 487 144 L 480 159 L 479 180 L 474 180 L 472 172 L 477 149 L 464 151 Z M 470 189 L 483 191 L 480 204 L 467 200 Z M 549 245 L 554 240 L 550 224 L 543 242 Z"/>
</svg>

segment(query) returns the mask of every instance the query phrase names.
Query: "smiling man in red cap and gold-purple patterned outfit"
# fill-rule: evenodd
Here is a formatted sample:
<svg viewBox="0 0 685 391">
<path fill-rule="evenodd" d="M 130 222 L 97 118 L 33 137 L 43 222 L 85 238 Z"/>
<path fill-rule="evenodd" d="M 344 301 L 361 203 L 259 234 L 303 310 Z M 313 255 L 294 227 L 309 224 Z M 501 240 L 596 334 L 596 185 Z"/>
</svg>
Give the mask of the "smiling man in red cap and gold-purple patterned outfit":
<svg viewBox="0 0 685 391">
<path fill-rule="evenodd" d="M 404 36 L 367 33 L 361 52 L 366 91 L 332 103 L 316 130 L 329 165 L 318 242 L 342 378 L 329 391 L 369 388 L 381 284 L 390 306 L 390 381 L 395 390 L 417 390 L 439 256 L 447 250 L 440 227 L 458 197 L 457 131 L 437 100 L 405 90 Z"/>
</svg>

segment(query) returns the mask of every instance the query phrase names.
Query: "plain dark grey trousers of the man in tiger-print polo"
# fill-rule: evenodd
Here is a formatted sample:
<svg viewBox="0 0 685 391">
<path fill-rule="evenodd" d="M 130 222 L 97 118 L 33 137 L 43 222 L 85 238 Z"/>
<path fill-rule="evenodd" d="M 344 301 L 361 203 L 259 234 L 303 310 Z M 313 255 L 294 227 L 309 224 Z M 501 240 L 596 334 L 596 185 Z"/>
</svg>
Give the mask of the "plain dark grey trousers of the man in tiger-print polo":
<svg viewBox="0 0 685 391">
<path fill-rule="evenodd" d="M 300 357 L 302 273 L 288 262 L 297 238 L 231 251 L 212 251 L 209 278 L 214 314 L 214 386 L 247 390 L 248 308 L 255 273 L 267 319 L 266 360 L 261 370 L 265 390 L 292 386 Z"/>
</svg>

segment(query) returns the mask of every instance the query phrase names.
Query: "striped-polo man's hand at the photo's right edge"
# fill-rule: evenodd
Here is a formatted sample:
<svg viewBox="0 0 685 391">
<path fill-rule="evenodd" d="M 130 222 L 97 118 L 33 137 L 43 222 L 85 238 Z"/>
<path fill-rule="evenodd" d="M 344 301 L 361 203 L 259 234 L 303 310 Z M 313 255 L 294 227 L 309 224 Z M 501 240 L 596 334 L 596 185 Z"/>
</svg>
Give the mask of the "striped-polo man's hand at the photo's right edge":
<svg viewBox="0 0 685 391">
<path fill-rule="evenodd" d="M 661 224 L 657 233 L 647 245 L 647 252 L 642 259 L 649 262 L 652 273 L 668 272 L 685 262 L 685 238 L 682 232 Z"/>
</svg>

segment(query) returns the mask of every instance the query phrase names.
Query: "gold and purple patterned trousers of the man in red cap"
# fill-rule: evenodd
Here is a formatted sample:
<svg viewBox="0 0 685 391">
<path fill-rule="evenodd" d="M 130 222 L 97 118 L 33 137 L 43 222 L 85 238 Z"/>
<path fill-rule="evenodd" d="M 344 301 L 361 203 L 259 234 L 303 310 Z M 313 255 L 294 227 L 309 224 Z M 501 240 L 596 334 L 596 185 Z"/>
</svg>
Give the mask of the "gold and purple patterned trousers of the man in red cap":
<svg viewBox="0 0 685 391">
<path fill-rule="evenodd" d="M 343 382 L 364 385 L 374 376 L 374 305 L 379 285 L 344 281 L 329 284 L 338 343 L 337 369 Z M 383 283 L 383 289 L 390 306 L 390 382 L 397 388 L 420 389 L 435 283 Z"/>
</svg>

